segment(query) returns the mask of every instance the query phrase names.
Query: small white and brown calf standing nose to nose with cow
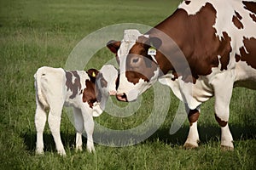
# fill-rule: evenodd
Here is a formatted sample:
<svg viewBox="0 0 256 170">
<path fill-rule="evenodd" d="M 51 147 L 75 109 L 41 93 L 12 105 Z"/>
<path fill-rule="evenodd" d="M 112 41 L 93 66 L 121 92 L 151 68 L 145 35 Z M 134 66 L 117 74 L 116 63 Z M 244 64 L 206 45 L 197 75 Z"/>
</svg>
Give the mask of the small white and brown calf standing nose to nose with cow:
<svg viewBox="0 0 256 170">
<path fill-rule="evenodd" d="M 38 69 L 35 78 L 37 130 L 36 153 L 44 153 L 44 125 L 49 110 L 49 129 L 55 140 L 56 150 L 65 156 L 61 142 L 60 124 L 63 105 L 73 107 L 76 129 L 76 150 L 82 150 L 82 133 L 87 134 L 87 150 L 95 151 L 92 133 L 93 116 L 100 116 L 109 95 L 115 95 L 115 81 L 118 71 L 113 65 L 103 65 L 100 71 L 65 71 L 62 68 L 43 66 Z"/>
</svg>

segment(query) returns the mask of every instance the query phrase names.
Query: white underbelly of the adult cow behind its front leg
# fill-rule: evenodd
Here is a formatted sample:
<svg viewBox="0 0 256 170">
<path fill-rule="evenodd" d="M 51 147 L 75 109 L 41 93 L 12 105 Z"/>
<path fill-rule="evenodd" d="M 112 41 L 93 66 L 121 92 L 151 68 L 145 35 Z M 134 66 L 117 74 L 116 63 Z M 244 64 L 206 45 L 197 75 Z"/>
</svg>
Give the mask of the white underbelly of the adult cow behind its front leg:
<svg viewBox="0 0 256 170">
<path fill-rule="evenodd" d="M 234 87 L 256 89 L 256 69 L 240 61 L 236 64 L 236 80 Z"/>
</svg>

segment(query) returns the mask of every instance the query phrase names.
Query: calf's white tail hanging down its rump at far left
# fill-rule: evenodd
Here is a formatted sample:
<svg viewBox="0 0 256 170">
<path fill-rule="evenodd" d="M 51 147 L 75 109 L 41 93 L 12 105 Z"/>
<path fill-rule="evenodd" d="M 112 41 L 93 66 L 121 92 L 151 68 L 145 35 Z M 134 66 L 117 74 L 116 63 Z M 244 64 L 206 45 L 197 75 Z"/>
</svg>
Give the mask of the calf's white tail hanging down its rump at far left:
<svg viewBox="0 0 256 170">
<path fill-rule="evenodd" d="M 35 78 L 35 88 L 36 88 L 36 98 L 38 99 L 38 103 L 40 103 L 43 108 L 49 108 L 49 104 L 47 102 L 46 96 L 44 95 L 44 91 L 42 89 L 42 79 L 45 77 L 44 67 L 38 69 Z"/>
</svg>

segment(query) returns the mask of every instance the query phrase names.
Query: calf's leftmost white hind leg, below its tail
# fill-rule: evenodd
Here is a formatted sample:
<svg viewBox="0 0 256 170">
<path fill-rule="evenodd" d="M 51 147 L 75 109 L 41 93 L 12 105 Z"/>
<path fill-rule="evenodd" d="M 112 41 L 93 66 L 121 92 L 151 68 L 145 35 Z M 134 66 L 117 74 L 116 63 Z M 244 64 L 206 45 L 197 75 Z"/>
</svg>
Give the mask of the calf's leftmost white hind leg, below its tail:
<svg viewBox="0 0 256 170">
<path fill-rule="evenodd" d="M 46 122 L 46 112 L 41 104 L 39 104 L 37 99 L 37 109 L 35 114 L 35 126 L 37 129 L 37 146 L 36 146 L 36 154 L 44 153 L 44 141 L 43 141 L 43 133 L 44 126 Z"/>
</svg>

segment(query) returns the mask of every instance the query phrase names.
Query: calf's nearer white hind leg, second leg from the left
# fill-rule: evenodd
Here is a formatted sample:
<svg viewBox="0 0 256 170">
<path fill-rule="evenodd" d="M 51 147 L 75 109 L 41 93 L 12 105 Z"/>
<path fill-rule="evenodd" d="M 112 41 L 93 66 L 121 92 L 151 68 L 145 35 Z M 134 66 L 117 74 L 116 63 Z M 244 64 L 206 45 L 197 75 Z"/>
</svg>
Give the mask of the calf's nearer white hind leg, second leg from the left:
<svg viewBox="0 0 256 170">
<path fill-rule="evenodd" d="M 66 156 L 64 146 L 61 142 L 61 134 L 60 134 L 61 111 L 62 111 L 62 105 L 55 105 L 55 107 L 50 108 L 48 123 L 49 123 L 50 132 L 52 133 L 52 136 L 55 140 L 56 150 L 61 156 Z"/>
</svg>

